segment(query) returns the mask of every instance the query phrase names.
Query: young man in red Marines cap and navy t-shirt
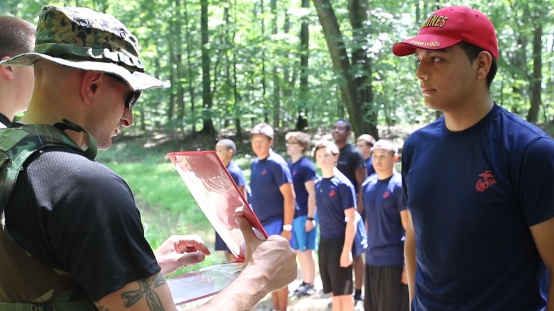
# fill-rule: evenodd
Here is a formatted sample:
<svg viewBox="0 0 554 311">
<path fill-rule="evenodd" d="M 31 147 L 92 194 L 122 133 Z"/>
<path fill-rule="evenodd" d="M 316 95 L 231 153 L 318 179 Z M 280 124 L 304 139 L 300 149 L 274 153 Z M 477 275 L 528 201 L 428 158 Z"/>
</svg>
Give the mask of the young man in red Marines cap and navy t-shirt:
<svg viewBox="0 0 554 311">
<path fill-rule="evenodd" d="M 406 139 L 402 156 L 412 310 L 544 309 L 554 141 L 491 99 L 493 24 L 470 8 L 442 8 L 392 50 L 416 54 L 425 105 L 444 113 Z M 554 310 L 553 288 L 548 298 Z"/>
</svg>

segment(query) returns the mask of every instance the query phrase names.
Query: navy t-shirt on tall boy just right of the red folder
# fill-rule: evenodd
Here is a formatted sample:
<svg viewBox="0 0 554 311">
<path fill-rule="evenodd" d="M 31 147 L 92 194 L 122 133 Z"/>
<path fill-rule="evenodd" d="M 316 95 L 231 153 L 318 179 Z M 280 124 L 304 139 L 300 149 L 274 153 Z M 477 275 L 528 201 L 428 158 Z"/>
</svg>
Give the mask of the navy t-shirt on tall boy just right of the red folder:
<svg viewBox="0 0 554 311">
<path fill-rule="evenodd" d="M 289 166 L 281 155 L 270 151 L 263 160 L 254 159 L 250 165 L 250 188 L 252 209 L 260 222 L 283 219 L 285 199 L 279 190 L 284 184 L 292 184 Z"/>
</svg>

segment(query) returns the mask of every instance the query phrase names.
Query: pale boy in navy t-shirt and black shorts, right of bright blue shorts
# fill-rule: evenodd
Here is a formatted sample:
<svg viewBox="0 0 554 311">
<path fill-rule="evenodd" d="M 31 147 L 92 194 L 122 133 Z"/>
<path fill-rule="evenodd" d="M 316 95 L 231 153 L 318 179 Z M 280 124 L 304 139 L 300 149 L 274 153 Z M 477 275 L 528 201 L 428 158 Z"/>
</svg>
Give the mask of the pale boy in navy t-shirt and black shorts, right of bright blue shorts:
<svg viewBox="0 0 554 311">
<path fill-rule="evenodd" d="M 321 178 L 316 183 L 316 205 L 323 292 L 332 293 L 334 311 L 346 311 L 354 309 L 352 244 L 356 235 L 356 194 L 350 180 L 336 168 L 338 153 L 337 146 L 326 141 L 317 143 L 312 151 L 321 169 Z"/>
</svg>

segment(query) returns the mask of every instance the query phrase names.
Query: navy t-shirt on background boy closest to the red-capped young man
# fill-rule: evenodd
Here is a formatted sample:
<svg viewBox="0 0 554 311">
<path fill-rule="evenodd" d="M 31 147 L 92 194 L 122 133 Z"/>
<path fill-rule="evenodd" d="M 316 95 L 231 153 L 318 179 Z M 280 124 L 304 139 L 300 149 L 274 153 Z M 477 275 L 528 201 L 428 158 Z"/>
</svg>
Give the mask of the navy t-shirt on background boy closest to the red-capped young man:
<svg viewBox="0 0 554 311">
<path fill-rule="evenodd" d="M 400 266 L 404 264 L 404 235 L 400 212 L 402 204 L 402 175 L 394 172 L 379 180 L 377 174 L 362 184 L 363 209 L 366 211 L 368 245 L 366 265 Z"/>
</svg>

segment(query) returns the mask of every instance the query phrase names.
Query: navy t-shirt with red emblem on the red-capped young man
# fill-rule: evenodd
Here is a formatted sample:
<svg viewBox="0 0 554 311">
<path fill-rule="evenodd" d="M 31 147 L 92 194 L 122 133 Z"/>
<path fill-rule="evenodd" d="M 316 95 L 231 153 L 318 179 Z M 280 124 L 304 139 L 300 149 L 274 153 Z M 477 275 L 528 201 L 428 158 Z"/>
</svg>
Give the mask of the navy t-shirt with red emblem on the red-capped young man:
<svg viewBox="0 0 554 311">
<path fill-rule="evenodd" d="M 406 139 L 403 202 L 416 237 L 412 310 L 541 310 L 530 226 L 554 217 L 554 141 L 504 108 Z"/>
</svg>

